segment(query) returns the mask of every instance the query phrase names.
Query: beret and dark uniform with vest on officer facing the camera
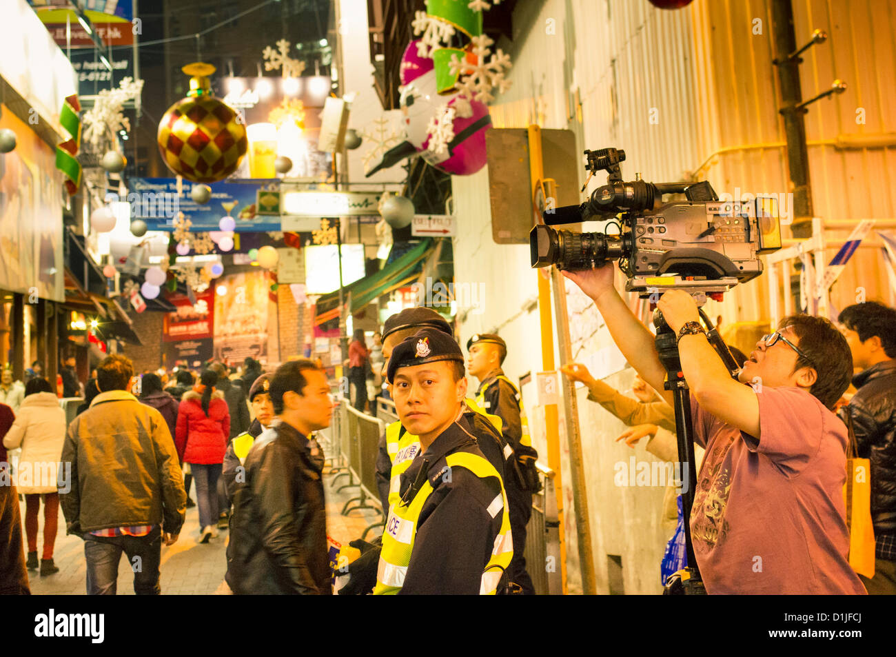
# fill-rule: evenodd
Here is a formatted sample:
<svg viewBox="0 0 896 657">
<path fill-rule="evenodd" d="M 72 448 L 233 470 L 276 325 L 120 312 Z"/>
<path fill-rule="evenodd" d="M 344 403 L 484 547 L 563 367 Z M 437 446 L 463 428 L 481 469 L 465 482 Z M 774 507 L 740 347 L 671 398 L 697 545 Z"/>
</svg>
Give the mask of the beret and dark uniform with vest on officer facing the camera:
<svg viewBox="0 0 896 657">
<path fill-rule="evenodd" d="M 450 336 L 423 329 L 393 350 L 389 380 L 400 367 L 436 360 L 463 357 Z M 477 415 L 461 411 L 401 473 L 375 594 L 496 592 L 513 537 L 502 477 L 470 431 Z"/>
</svg>

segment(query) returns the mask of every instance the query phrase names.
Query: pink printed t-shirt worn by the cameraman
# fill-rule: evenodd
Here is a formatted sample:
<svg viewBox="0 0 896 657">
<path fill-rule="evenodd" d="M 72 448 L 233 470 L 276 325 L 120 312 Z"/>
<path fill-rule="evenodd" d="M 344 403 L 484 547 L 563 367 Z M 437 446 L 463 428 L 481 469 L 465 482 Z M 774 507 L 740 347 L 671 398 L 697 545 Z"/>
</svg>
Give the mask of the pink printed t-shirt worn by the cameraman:
<svg viewBox="0 0 896 657">
<path fill-rule="evenodd" d="M 758 440 L 691 398 L 706 447 L 691 511 L 706 592 L 864 594 L 847 560 L 846 427 L 799 388 L 756 396 Z"/>
</svg>

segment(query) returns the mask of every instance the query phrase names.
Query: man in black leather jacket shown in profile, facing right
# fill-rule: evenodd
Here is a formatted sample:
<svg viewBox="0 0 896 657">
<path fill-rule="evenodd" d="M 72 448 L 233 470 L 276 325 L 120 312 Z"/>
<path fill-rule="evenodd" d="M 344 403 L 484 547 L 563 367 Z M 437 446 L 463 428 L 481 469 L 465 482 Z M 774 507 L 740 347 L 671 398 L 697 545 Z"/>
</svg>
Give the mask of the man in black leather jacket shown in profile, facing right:
<svg viewBox="0 0 896 657">
<path fill-rule="evenodd" d="M 323 450 L 313 431 L 330 426 L 326 375 L 311 360 L 293 360 L 271 378 L 277 414 L 246 456 L 230 521 L 228 572 L 237 594 L 332 592 L 323 498 Z"/>
</svg>

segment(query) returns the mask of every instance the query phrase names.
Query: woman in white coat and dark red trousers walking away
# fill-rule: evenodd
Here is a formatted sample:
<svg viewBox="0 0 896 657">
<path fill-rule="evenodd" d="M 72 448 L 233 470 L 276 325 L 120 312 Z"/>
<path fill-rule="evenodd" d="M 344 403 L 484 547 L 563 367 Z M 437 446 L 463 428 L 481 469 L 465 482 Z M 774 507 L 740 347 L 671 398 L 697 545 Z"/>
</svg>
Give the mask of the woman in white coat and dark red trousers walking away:
<svg viewBox="0 0 896 657">
<path fill-rule="evenodd" d="M 16 469 L 16 488 L 25 496 L 25 534 L 28 537 L 28 568 L 38 569 L 38 513 L 44 500 L 44 551 L 40 575 L 53 575 L 53 546 L 59 519 L 57 471 L 65 442 L 65 411 L 43 378 L 25 385 L 25 398 L 15 415 L 13 427 L 4 436 L 7 449 L 22 447 Z M 70 484 L 69 484 L 70 485 Z"/>
</svg>

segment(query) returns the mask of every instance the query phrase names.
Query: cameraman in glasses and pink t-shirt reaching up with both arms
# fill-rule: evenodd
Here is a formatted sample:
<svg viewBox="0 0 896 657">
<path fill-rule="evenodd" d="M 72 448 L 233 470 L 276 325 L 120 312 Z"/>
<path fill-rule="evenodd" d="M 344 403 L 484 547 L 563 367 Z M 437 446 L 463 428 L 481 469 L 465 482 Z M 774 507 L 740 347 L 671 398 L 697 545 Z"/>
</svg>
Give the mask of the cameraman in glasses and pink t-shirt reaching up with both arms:
<svg viewBox="0 0 896 657">
<path fill-rule="evenodd" d="M 614 272 L 605 264 L 563 273 L 672 403 L 654 337 L 616 291 Z M 700 328 L 694 298 L 669 290 L 659 310 L 678 336 L 694 441 L 706 449 L 690 517 L 706 592 L 865 593 L 847 561 L 847 432 L 831 412 L 852 373 L 843 336 L 825 319 L 788 317 L 756 344 L 738 383 Z"/>
</svg>

